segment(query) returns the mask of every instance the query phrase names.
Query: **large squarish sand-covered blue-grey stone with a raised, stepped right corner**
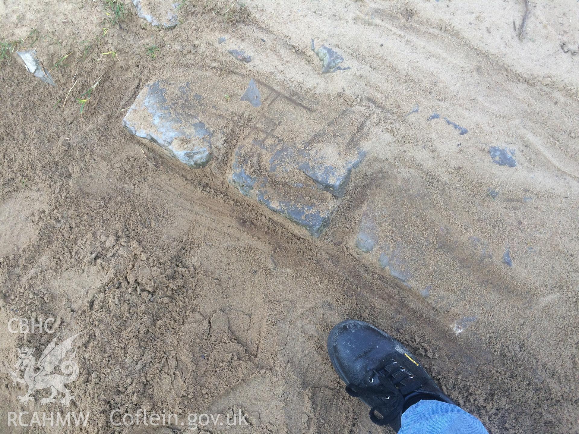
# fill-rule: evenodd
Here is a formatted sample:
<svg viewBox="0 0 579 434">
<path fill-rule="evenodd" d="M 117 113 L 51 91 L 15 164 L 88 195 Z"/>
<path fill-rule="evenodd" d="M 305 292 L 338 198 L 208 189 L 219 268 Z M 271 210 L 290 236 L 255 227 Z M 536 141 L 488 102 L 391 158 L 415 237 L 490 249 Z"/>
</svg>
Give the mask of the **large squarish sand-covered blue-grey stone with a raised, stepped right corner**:
<svg viewBox="0 0 579 434">
<path fill-rule="evenodd" d="M 259 96 L 259 98 L 258 98 Z M 245 196 L 320 236 L 364 159 L 362 109 L 328 119 L 251 79 L 241 98 L 255 123 L 237 146 L 230 182 Z"/>
</svg>

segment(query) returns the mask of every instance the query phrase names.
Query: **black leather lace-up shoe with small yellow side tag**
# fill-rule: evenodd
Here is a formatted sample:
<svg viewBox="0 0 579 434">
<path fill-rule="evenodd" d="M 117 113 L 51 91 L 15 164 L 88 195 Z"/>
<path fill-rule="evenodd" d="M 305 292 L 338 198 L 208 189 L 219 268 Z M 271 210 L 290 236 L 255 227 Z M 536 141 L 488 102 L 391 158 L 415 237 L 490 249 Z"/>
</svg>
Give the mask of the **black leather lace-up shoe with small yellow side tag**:
<svg viewBox="0 0 579 434">
<path fill-rule="evenodd" d="M 328 353 L 346 392 L 371 407 L 376 425 L 398 432 L 402 413 L 423 399 L 455 404 L 404 345 L 367 322 L 348 319 L 336 325 Z"/>
</svg>

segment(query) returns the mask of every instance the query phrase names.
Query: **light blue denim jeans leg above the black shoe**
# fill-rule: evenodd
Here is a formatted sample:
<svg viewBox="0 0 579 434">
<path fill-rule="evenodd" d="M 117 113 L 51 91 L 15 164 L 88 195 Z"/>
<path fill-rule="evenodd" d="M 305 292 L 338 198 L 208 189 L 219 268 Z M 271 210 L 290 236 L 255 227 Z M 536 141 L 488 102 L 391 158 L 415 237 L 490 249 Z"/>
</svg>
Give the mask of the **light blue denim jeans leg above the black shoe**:
<svg viewBox="0 0 579 434">
<path fill-rule="evenodd" d="M 402 413 L 398 434 L 489 434 L 472 414 L 436 400 L 419 401 Z"/>
</svg>

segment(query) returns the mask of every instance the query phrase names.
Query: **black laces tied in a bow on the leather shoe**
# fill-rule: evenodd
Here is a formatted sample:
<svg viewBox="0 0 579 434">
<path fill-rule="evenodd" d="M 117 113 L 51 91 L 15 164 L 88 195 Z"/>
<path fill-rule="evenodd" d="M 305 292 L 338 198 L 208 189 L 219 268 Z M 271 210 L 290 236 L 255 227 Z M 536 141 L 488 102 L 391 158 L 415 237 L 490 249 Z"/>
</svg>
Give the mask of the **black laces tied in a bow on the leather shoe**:
<svg viewBox="0 0 579 434">
<path fill-rule="evenodd" d="M 420 389 L 428 379 L 413 374 L 400 360 L 398 353 L 389 356 L 390 363 L 382 369 L 372 369 L 366 374 L 368 382 L 373 383 L 369 387 L 360 387 L 354 384 L 346 386 L 346 392 L 355 397 L 381 398 L 382 404 L 377 404 L 370 409 L 370 420 L 376 425 L 387 425 L 394 421 L 402 413 L 404 398 L 417 389 Z M 376 416 L 376 412 L 382 418 Z"/>
</svg>

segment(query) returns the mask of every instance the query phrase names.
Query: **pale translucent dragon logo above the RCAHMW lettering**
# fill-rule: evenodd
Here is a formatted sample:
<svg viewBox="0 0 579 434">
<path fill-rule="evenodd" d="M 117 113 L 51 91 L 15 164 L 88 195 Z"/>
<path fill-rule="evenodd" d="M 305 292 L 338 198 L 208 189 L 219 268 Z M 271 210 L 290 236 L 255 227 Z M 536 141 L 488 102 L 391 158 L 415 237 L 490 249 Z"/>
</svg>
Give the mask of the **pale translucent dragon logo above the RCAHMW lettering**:
<svg viewBox="0 0 579 434">
<path fill-rule="evenodd" d="M 72 341 L 80 333 L 76 333 L 58 345 L 56 345 L 55 337 L 42 352 L 38 363 L 36 363 L 32 355 L 35 348 L 19 348 L 19 358 L 16 365 L 14 365 L 16 371 L 10 372 L 10 376 L 14 380 L 14 384 L 20 382 L 28 386 L 26 395 L 18 397 L 21 403 L 26 404 L 30 400 L 34 401 L 34 396 L 32 396 L 34 392 L 47 388 L 50 388 L 51 393 L 49 398 L 42 398 L 41 402 L 43 404 L 54 402 L 54 396 L 56 396 L 57 392 L 64 393 L 60 402 L 67 407 L 71 400 L 74 400 L 74 396 L 64 385 L 75 381 L 78 377 L 78 366 L 76 366 L 74 361 L 76 348 L 72 347 Z M 67 355 L 70 350 L 72 350 L 72 354 Z M 54 369 L 58 366 L 60 366 L 60 370 L 64 375 L 54 373 Z M 18 375 L 20 371 L 24 372 L 23 378 Z"/>
</svg>

